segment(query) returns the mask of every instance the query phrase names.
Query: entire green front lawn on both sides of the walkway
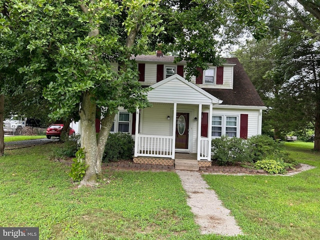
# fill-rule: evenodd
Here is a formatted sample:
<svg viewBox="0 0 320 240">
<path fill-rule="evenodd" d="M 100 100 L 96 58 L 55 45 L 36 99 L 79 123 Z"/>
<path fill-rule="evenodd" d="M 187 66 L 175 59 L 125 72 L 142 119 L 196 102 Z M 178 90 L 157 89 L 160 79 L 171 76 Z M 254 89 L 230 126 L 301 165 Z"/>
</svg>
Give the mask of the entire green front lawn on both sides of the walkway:
<svg viewBox="0 0 320 240">
<path fill-rule="evenodd" d="M 287 144 L 318 166 L 320 154 Z M 317 239 L 319 167 L 295 176 L 209 175 L 244 235 L 201 235 L 174 172 L 105 171 L 96 188 L 77 188 L 69 167 L 48 160 L 59 143 L 0 157 L 0 226 L 38 226 L 40 239 Z"/>
</svg>

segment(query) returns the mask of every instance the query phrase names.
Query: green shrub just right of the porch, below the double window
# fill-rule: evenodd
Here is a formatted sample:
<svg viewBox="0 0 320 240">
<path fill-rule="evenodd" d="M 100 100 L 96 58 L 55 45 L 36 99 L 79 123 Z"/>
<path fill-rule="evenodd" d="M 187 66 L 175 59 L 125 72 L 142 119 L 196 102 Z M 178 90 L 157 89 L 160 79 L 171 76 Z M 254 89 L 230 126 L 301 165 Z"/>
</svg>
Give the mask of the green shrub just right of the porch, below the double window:
<svg viewBox="0 0 320 240">
<path fill-rule="evenodd" d="M 221 136 L 211 141 L 211 158 L 219 165 L 251 161 L 246 140 L 237 137 Z"/>
</svg>

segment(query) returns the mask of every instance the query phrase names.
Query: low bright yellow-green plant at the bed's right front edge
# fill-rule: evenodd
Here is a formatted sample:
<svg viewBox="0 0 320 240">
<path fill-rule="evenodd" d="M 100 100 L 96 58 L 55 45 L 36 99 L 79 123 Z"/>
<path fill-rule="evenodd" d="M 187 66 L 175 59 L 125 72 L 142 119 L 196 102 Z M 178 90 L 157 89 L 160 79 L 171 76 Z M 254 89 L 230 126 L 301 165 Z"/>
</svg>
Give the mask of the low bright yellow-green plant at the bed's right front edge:
<svg viewBox="0 0 320 240">
<path fill-rule="evenodd" d="M 286 172 L 286 169 L 294 169 L 293 165 L 286 163 L 279 157 L 266 157 L 263 160 L 255 162 L 254 167 L 257 169 L 263 169 L 269 174 L 282 174 Z"/>
</svg>

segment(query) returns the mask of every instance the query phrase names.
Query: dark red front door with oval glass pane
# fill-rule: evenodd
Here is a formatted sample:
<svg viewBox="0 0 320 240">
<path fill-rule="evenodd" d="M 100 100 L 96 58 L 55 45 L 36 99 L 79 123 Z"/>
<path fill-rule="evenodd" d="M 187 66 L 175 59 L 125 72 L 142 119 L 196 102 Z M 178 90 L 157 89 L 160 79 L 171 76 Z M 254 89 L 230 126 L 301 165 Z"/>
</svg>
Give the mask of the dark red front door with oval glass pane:
<svg viewBox="0 0 320 240">
<path fill-rule="evenodd" d="M 175 148 L 188 149 L 189 141 L 189 113 L 176 113 Z"/>
</svg>

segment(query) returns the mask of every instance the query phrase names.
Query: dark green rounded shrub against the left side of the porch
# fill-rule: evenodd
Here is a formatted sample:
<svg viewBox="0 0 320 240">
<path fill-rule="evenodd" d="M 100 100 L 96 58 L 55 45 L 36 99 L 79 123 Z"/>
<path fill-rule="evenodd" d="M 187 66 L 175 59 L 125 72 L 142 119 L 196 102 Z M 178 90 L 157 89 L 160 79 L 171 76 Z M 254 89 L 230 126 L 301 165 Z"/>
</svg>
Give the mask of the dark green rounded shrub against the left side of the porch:
<svg viewBox="0 0 320 240">
<path fill-rule="evenodd" d="M 130 159 L 133 154 L 134 141 L 132 137 L 123 132 L 110 133 L 104 147 L 102 161 L 118 161 Z"/>
</svg>

